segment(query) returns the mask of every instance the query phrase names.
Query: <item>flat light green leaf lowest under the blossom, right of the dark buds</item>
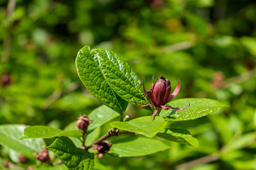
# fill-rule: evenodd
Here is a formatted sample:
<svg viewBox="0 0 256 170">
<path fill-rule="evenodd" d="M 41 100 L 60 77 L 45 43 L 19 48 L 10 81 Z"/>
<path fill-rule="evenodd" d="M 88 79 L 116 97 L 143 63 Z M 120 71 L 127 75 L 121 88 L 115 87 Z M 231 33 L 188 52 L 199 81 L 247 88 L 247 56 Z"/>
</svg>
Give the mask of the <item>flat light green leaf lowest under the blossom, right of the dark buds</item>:
<svg viewBox="0 0 256 170">
<path fill-rule="evenodd" d="M 169 148 L 161 141 L 141 136 L 117 139 L 111 143 L 113 145 L 109 153 L 117 157 L 138 157 Z"/>
</svg>

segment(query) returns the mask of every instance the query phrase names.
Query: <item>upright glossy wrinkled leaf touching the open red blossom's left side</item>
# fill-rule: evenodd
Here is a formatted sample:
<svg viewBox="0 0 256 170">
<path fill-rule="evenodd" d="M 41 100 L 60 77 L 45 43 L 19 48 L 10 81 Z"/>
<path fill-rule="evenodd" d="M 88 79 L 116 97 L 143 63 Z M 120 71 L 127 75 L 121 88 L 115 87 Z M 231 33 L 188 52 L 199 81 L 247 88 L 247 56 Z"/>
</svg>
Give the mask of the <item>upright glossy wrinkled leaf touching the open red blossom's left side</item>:
<svg viewBox="0 0 256 170">
<path fill-rule="evenodd" d="M 137 74 L 132 71 L 127 62 L 121 57 L 118 57 L 116 53 L 102 48 L 93 49 L 92 54 L 97 58 L 100 69 L 108 81 L 109 87 L 113 89 L 118 96 L 132 104 L 135 104 L 134 100 L 140 105 L 149 103 L 143 93 L 140 79 Z"/>
</svg>

